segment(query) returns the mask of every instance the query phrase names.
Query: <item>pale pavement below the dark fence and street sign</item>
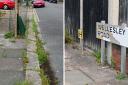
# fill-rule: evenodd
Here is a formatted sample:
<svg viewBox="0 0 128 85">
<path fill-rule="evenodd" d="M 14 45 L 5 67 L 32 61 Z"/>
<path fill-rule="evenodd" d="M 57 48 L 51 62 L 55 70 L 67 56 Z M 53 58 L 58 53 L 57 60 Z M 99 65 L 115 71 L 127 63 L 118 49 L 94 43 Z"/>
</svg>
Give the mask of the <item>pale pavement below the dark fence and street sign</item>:
<svg viewBox="0 0 128 85">
<path fill-rule="evenodd" d="M 90 51 L 81 55 L 77 45 L 66 45 L 65 85 L 128 85 L 128 80 L 117 80 L 116 71 L 98 65 Z"/>
</svg>

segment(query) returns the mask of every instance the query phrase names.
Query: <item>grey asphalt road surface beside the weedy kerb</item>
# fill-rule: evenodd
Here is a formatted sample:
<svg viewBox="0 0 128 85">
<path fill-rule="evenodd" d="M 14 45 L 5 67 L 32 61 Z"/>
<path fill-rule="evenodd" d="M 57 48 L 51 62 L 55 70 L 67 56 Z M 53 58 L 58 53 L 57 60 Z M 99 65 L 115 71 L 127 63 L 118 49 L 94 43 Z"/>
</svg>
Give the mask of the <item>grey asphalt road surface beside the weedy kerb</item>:
<svg viewBox="0 0 128 85">
<path fill-rule="evenodd" d="M 46 50 L 59 85 L 63 85 L 63 4 L 47 3 L 44 8 L 36 8 L 42 38 L 47 43 Z"/>
</svg>

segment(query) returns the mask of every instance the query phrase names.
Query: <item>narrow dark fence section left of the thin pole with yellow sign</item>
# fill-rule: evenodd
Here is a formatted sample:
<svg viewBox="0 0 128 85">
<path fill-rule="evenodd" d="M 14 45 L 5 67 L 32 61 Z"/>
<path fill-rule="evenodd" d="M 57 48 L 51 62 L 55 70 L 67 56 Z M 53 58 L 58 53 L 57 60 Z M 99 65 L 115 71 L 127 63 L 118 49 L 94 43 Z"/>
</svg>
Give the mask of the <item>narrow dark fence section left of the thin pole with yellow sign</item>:
<svg viewBox="0 0 128 85">
<path fill-rule="evenodd" d="M 65 0 L 65 27 L 78 42 L 77 30 L 80 27 L 80 0 Z"/>
</svg>

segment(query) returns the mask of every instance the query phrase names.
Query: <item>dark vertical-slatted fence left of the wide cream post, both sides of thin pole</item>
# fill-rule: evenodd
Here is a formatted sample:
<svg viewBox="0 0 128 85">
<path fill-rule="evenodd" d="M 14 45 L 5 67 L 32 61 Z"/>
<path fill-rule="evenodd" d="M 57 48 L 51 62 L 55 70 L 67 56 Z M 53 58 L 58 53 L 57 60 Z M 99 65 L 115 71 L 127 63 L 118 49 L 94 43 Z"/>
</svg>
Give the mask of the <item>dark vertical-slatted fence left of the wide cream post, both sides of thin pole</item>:
<svg viewBox="0 0 128 85">
<path fill-rule="evenodd" d="M 100 49 L 100 40 L 96 39 L 96 22 L 108 17 L 108 0 L 84 0 L 83 35 L 84 46 L 93 50 Z M 77 30 L 80 28 L 80 0 L 65 0 L 65 27 L 79 42 Z"/>
</svg>

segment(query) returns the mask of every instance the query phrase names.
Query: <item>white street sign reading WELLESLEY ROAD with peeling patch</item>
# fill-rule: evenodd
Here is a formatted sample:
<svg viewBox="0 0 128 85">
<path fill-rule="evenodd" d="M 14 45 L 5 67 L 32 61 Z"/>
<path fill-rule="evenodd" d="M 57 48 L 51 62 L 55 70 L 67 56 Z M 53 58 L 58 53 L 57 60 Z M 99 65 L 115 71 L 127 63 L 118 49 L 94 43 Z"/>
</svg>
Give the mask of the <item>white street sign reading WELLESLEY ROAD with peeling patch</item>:
<svg viewBox="0 0 128 85">
<path fill-rule="evenodd" d="M 128 27 L 97 22 L 96 38 L 128 47 Z"/>
</svg>

